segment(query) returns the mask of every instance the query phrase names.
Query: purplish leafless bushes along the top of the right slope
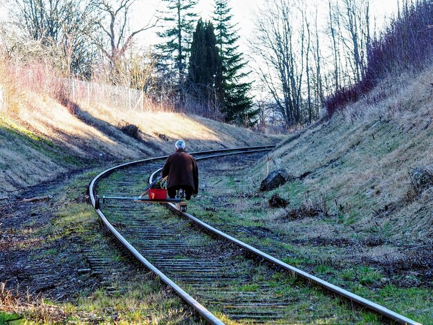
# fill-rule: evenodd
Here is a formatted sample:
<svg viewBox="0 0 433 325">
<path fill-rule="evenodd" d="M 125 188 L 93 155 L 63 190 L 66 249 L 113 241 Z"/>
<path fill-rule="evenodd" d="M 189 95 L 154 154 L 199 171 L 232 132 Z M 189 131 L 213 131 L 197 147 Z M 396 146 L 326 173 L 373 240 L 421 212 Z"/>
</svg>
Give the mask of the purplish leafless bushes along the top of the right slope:
<svg viewBox="0 0 433 325">
<path fill-rule="evenodd" d="M 432 52 L 433 1 L 405 1 L 385 32 L 369 46 L 368 64 L 362 80 L 326 98 L 325 106 L 329 116 L 369 93 L 380 78 L 405 70 L 421 70 L 425 64 L 430 63 Z"/>
</svg>

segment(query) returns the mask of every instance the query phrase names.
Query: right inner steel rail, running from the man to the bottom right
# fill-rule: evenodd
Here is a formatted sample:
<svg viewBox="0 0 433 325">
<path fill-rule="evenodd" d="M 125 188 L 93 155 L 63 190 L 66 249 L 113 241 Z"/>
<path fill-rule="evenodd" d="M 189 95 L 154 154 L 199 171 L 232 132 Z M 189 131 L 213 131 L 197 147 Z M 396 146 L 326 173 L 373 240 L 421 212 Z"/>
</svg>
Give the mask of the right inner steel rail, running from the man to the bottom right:
<svg viewBox="0 0 433 325">
<path fill-rule="evenodd" d="M 197 158 L 199 159 L 207 159 L 212 158 L 212 156 L 207 156 L 203 158 Z M 149 182 L 151 182 L 152 178 L 160 171 L 162 168 L 154 171 L 153 174 L 151 174 L 149 178 Z M 401 324 L 409 324 L 409 325 L 422 325 L 421 323 L 418 323 L 414 321 L 413 319 L 409 319 L 403 315 L 400 315 L 392 310 L 389 310 L 388 308 L 384 306 L 380 306 L 379 304 L 376 304 L 373 301 L 370 301 L 368 299 L 362 298 L 354 293 L 351 293 L 348 290 L 344 290 L 343 288 L 340 288 L 338 286 L 335 286 L 327 281 L 324 281 L 318 277 L 315 277 L 314 275 L 310 275 L 309 273 L 300 270 L 299 268 L 295 268 L 294 266 L 291 266 L 287 263 L 284 263 L 283 261 L 280 261 L 279 259 L 276 259 L 275 257 L 270 256 L 269 254 L 266 254 L 265 252 L 262 252 L 261 250 L 258 250 L 257 248 L 252 247 L 251 245 L 248 245 L 247 243 L 243 243 L 243 241 L 239 241 L 239 239 L 235 239 L 234 237 L 230 236 L 229 234 L 225 234 L 225 232 L 221 232 L 221 230 L 217 230 L 216 228 L 212 227 L 211 225 L 208 225 L 207 223 L 204 223 L 200 219 L 197 219 L 195 216 L 192 216 L 192 214 L 189 214 L 187 212 L 180 212 L 176 209 L 176 205 L 173 203 L 168 203 L 169 207 L 174 210 L 178 214 L 182 214 L 187 219 L 190 219 L 190 221 L 196 223 L 196 225 L 201 226 L 201 228 L 212 232 L 212 234 L 216 234 L 216 236 L 219 236 L 227 241 L 230 241 L 231 243 L 234 243 L 238 245 L 241 248 L 244 248 L 251 252 L 252 254 L 255 254 L 258 257 L 261 257 L 263 259 L 266 259 L 267 261 L 270 261 L 271 263 L 284 268 L 284 270 L 288 270 L 292 272 L 293 274 L 302 277 L 303 279 L 306 279 L 308 281 L 312 281 L 313 283 L 321 286 L 322 288 L 325 288 L 327 290 L 330 290 L 333 293 L 336 293 L 346 299 L 349 299 L 353 302 L 356 302 L 356 304 L 360 304 L 361 306 L 365 306 L 369 308 L 370 310 L 374 310 L 376 313 L 383 315 L 389 319 L 392 319 L 396 322 L 399 322 Z"/>
</svg>

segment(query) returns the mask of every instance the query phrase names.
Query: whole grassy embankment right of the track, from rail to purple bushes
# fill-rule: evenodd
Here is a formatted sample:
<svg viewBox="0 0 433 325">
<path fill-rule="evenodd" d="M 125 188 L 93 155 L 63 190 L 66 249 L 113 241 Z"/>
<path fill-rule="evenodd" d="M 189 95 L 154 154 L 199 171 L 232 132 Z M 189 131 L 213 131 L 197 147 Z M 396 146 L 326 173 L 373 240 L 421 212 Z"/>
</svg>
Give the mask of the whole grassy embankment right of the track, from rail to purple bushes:
<svg viewBox="0 0 433 325">
<path fill-rule="evenodd" d="M 411 178 L 414 168 L 433 165 L 431 75 L 385 80 L 344 113 L 282 142 L 270 170 L 286 169 L 293 179 L 285 185 L 258 192 L 266 159 L 248 174 L 242 165 L 221 167 L 221 177 L 202 178 L 205 191 L 190 209 L 293 266 L 431 324 L 433 191 L 420 192 Z M 288 207 L 270 208 L 273 194 Z M 213 211 L 204 209 L 210 202 Z"/>
</svg>

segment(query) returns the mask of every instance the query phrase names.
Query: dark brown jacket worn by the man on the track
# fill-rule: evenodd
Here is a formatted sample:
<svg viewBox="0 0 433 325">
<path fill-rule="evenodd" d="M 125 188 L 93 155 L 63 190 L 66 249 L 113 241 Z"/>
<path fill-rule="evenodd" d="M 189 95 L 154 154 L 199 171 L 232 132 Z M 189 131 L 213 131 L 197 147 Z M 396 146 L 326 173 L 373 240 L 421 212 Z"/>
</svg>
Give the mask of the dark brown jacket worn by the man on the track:
<svg viewBox="0 0 433 325">
<path fill-rule="evenodd" d="M 199 167 L 194 157 L 183 149 L 168 156 L 161 175 L 168 176 L 167 187 L 190 185 L 194 194 L 199 193 Z"/>
</svg>

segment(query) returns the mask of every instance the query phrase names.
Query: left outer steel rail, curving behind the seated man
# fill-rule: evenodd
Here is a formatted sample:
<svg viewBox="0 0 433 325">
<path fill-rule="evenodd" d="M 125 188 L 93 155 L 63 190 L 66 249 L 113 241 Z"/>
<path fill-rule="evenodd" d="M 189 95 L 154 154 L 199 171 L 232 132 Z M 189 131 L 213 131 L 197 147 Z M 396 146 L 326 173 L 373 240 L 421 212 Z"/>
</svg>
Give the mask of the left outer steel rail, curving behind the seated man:
<svg viewBox="0 0 433 325">
<path fill-rule="evenodd" d="M 192 154 L 210 154 L 212 152 L 224 152 L 224 151 L 236 151 L 236 150 L 242 150 L 241 152 L 245 153 L 245 152 L 257 152 L 257 151 L 268 151 L 271 148 L 273 148 L 275 146 L 259 146 L 259 147 L 242 147 L 242 148 L 232 148 L 232 149 L 218 149 L 218 150 L 208 150 L 208 151 L 198 151 L 198 152 L 194 152 Z M 246 149 L 252 149 L 252 150 L 246 150 Z M 230 152 L 230 155 L 232 154 L 237 154 L 237 153 L 232 153 Z M 219 154 L 216 156 L 224 156 L 223 154 Z M 95 176 L 95 178 L 93 178 L 93 180 L 91 181 L 90 185 L 89 185 L 89 196 L 91 198 L 91 203 L 93 205 L 93 207 L 96 207 L 97 203 L 96 203 L 96 198 L 95 198 L 95 186 L 98 183 L 98 181 L 102 178 L 102 177 L 106 177 L 109 174 L 111 174 L 113 171 L 116 171 L 118 169 L 122 169 L 125 167 L 130 167 L 133 165 L 138 165 L 140 163 L 149 163 L 151 161 L 154 160 L 160 160 L 160 159 L 164 159 L 167 158 L 167 156 L 159 156 L 159 157 L 155 157 L 155 158 L 148 158 L 148 159 L 142 159 L 142 160 L 135 160 L 129 163 L 125 163 L 125 164 L 121 164 L 121 165 L 117 165 L 114 167 L 111 167 L 109 169 L 106 169 L 105 171 L 102 171 L 100 174 L 98 174 L 97 176 Z M 207 157 L 203 157 L 203 159 L 205 158 L 210 158 L 210 156 Z M 142 263 L 142 265 L 144 265 L 147 269 L 151 270 L 151 272 L 154 272 L 155 275 L 157 275 L 158 277 L 160 277 L 160 280 L 163 281 L 163 283 L 167 284 L 167 286 L 169 286 L 170 288 L 172 288 L 174 290 L 175 293 L 177 293 L 179 295 L 179 297 L 181 297 L 181 299 L 183 299 L 184 301 L 187 302 L 187 304 L 189 304 L 190 306 L 192 306 L 192 308 L 194 308 L 194 310 L 196 310 L 199 315 L 201 315 L 201 317 L 203 317 L 203 319 L 206 320 L 206 322 L 208 322 L 209 324 L 217 324 L 217 325 L 221 325 L 224 324 L 223 322 L 221 322 L 220 319 L 218 319 L 217 317 L 215 317 L 212 313 L 210 313 L 210 311 L 208 309 L 206 309 L 204 306 L 202 306 L 199 301 L 196 301 L 193 297 L 191 297 L 190 295 L 188 295 L 188 293 L 185 292 L 185 290 L 183 290 L 181 287 L 179 287 L 177 284 L 174 283 L 174 281 L 172 281 L 171 279 L 169 279 L 169 277 L 167 277 L 163 272 L 161 272 L 158 268 L 156 268 L 155 266 L 153 266 L 149 261 L 147 261 L 147 259 L 145 259 L 145 257 L 142 256 L 142 254 L 140 254 L 140 252 L 138 252 L 138 250 L 136 250 L 136 248 L 133 247 L 133 245 L 131 245 L 123 236 L 122 234 L 120 234 L 120 232 L 118 232 L 116 230 L 116 228 L 113 227 L 113 225 L 111 225 L 111 223 L 107 220 L 107 218 L 104 216 L 104 213 L 99 209 L 96 209 L 96 212 L 98 213 L 98 215 L 100 216 L 102 222 L 107 226 L 107 228 L 110 230 L 110 232 L 116 236 L 116 238 L 118 239 L 118 241 L 120 241 L 120 243 L 122 243 L 122 245 L 125 246 L 125 248 L 127 248 L 127 250 L 129 250 L 129 252 L 131 252 L 131 254 L 133 254 L 134 257 L 136 257 L 136 259 L 138 259 L 138 261 L 140 261 L 140 263 Z"/>
</svg>

